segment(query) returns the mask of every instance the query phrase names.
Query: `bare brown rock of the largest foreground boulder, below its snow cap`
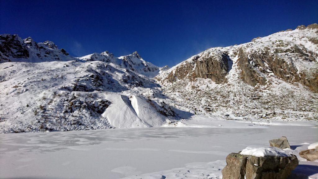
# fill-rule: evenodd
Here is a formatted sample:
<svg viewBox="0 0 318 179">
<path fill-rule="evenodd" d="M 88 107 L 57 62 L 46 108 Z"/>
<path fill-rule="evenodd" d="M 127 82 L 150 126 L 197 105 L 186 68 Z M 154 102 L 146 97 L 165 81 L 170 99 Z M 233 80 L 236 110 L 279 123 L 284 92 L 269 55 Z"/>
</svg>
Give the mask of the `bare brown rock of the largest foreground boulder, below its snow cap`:
<svg viewBox="0 0 318 179">
<path fill-rule="evenodd" d="M 231 153 L 226 157 L 223 179 L 286 179 L 298 165 L 295 155 L 290 157 L 255 157 Z"/>
</svg>

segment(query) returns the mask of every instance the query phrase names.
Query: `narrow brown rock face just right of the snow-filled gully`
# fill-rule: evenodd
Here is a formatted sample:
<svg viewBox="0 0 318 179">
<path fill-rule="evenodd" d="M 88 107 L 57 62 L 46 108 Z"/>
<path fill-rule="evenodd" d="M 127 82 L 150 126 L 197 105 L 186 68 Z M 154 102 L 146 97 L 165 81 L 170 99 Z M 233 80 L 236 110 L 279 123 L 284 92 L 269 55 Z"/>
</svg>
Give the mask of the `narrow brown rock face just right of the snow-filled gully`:
<svg viewBox="0 0 318 179">
<path fill-rule="evenodd" d="M 241 75 L 247 84 L 256 86 L 257 83 L 261 85 L 266 84 L 266 78 L 262 76 L 256 68 L 253 68 L 251 61 L 248 59 L 247 54 L 242 49 L 239 50 L 238 54 L 238 66 L 241 68 Z"/>
</svg>

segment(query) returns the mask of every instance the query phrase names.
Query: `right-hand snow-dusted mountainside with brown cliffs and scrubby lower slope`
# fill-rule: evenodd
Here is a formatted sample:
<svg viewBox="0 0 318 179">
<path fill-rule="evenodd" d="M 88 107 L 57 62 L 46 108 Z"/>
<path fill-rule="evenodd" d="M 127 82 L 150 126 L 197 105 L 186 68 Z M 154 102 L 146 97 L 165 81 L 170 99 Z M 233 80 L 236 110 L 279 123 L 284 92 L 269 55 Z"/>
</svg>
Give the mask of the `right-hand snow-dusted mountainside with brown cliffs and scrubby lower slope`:
<svg viewBox="0 0 318 179">
<path fill-rule="evenodd" d="M 159 74 L 164 92 L 195 113 L 263 120 L 318 119 L 318 25 L 215 47 Z"/>
</svg>

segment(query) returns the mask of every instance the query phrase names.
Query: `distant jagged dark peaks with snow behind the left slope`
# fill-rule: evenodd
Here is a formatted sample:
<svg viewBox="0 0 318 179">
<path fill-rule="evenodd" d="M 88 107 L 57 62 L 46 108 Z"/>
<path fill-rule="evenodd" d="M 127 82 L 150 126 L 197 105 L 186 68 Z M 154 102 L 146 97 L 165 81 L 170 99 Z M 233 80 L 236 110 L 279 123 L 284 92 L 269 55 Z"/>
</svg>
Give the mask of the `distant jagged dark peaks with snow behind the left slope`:
<svg viewBox="0 0 318 179">
<path fill-rule="evenodd" d="M 31 37 L 21 39 L 18 35 L 0 35 L 0 62 L 44 62 L 44 61 L 103 61 L 127 68 L 147 77 L 155 77 L 162 69 L 133 54 L 115 57 L 108 51 L 82 57 L 72 57 L 66 50 L 59 49 L 52 41 L 35 42 Z"/>
</svg>

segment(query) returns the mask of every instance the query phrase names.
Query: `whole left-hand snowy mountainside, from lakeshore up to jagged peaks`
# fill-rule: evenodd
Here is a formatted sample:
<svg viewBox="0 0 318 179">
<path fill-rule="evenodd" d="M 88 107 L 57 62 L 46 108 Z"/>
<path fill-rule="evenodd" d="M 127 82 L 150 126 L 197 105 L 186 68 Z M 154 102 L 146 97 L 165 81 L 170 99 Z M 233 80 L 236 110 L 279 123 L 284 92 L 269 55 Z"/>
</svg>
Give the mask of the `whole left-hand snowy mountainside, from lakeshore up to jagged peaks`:
<svg viewBox="0 0 318 179">
<path fill-rule="evenodd" d="M 137 52 L 74 58 L 54 43 L 1 35 L 0 132 L 161 126 L 186 112 L 146 76 L 159 67 Z"/>
</svg>

